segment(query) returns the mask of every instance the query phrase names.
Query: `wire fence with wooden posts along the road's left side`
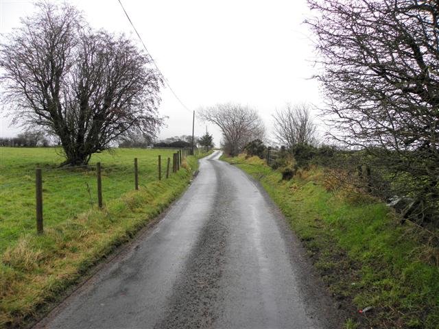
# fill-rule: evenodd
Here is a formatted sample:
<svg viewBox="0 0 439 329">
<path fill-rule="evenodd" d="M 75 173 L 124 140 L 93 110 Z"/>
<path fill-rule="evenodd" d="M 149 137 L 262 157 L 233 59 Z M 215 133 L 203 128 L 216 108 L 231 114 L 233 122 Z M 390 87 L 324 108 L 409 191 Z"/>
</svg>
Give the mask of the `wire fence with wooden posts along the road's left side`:
<svg viewBox="0 0 439 329">
<path fill-rule="evenodd" d="M 44 226 L 54 226 L 92 207 L 103 208 L 111 199 L 139 186 L 170 178 L 187 156 L 206 151 L 209 149 L 164 149 L 156 157 L 75 167 L 25 168 L 20 175 L 0 173 L 0 240 L 7 245 L 32 232 L 35 226 L 42 234 Z"/>
</svg>

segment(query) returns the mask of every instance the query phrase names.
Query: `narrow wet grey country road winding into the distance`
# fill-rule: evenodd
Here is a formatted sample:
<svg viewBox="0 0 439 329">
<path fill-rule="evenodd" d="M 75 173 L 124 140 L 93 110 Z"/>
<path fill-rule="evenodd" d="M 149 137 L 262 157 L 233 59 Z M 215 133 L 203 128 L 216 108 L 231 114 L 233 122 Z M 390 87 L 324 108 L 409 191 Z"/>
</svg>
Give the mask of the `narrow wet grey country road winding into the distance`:
<svg viewBox="0 0 439 329">
<path fill-rule="evenodd" d="M 219 156 L 36 328 L 340 328 L 276 206 Z"/>
</svg>

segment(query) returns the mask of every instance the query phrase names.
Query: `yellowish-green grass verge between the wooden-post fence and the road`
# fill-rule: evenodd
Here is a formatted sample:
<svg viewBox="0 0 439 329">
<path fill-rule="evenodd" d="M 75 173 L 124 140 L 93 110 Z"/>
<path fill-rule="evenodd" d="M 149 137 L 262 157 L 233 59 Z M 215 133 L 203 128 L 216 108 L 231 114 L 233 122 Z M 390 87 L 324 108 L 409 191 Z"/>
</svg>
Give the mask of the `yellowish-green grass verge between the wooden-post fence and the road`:
<svg viewBox="0 0 439 329">
<path fill-rule="evenodd" d="M 47 306 L 80 282 L 99 260 L 176 199 L 198 168 L 190 156 L 168 179 L 150 181 L 45 228 L 43 235 L 22 234 L 6 247 L 0 262 L 0 328 L 18 328 L 44 313 Z"/>
</svg>

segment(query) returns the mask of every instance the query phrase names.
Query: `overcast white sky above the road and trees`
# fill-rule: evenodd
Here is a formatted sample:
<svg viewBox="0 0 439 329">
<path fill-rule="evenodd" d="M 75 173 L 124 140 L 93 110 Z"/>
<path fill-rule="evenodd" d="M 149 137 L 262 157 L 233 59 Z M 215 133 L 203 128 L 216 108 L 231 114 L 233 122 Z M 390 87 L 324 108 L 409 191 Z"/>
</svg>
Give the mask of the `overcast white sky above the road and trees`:
<svg viewBox="0 0 439 329">
<path fill-rule="evenodd" d="M 118 0 L 71 0 L 95 28 L 131 34 Z M 226 101 L 252 106 L 272 131 L 276 108 L 321 103 L 313 73 L 306 0 L 122 0 L 134 26 L 178 97 L 190 110 Z M 0 0 L 0 32 L 31 14 L 33 1 Z M 191 134 L 192 113 L 163 89 L 160 137 Z M 318 113 L 315 114 L 318 117 Z M 317 118 L 318 119 L 318 118 Z M 207 124 L 219 145 L 221 134 Z M 195 121 L 195 135 L 206 123 Z M 1 115 L 0 136 L 19 132 Z"/>
</svg>

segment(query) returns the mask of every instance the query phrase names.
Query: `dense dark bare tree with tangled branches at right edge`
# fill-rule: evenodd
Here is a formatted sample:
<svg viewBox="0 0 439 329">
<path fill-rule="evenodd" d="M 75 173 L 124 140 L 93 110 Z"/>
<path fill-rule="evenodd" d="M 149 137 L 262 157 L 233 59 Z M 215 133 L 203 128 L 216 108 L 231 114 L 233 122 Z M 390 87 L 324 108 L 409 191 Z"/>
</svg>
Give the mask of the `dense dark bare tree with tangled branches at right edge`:
<svg viewBox="0 0 439 329">
<path fill-rule="evenodd" d="M 340 132 L 333 136 L 366 149 L 363 161 L 399 175 L 393 183 L 405 182 L 400 191 L 414 196 L 421 216 L 438 210 L 438 1 L 309 5 L 316 12 L 308 23 L 320 53 L 317 78 L 333 132 Z"/>
</svg>

